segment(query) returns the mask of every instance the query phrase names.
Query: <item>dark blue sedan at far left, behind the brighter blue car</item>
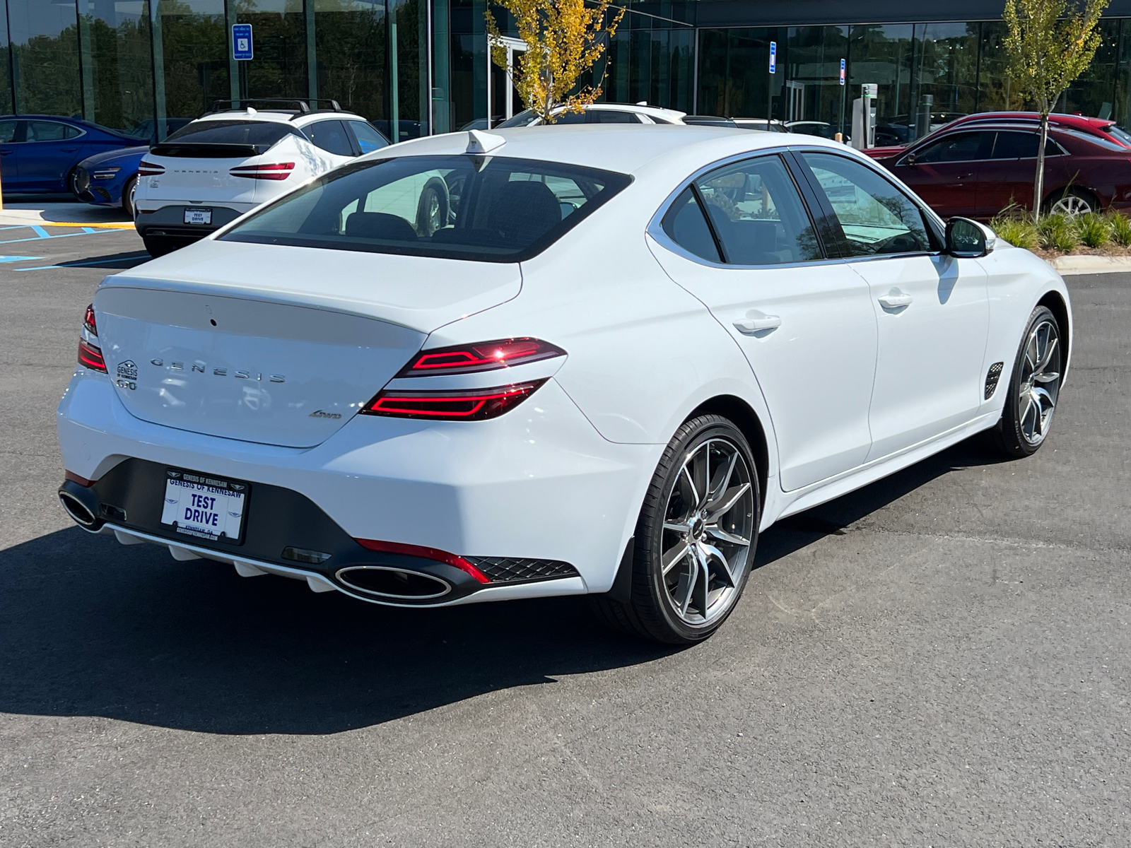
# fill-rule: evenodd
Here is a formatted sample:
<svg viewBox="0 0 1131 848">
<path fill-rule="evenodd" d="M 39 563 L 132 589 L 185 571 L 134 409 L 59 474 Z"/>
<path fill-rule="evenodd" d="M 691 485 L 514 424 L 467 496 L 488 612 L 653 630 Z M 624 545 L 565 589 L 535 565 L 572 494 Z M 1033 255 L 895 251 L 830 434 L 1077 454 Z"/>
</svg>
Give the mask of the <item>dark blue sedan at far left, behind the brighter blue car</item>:
<svg viewBox="0 0 1131 848">
<path fill-rule="evenodd" d="M 136 147 L 137 136 L 60 115 L 0 116 L 5 193 L 72 191 L 75 167 L 97 153 Z M 146 139 L 147 140 L 147 139 Z"/>
</svg>

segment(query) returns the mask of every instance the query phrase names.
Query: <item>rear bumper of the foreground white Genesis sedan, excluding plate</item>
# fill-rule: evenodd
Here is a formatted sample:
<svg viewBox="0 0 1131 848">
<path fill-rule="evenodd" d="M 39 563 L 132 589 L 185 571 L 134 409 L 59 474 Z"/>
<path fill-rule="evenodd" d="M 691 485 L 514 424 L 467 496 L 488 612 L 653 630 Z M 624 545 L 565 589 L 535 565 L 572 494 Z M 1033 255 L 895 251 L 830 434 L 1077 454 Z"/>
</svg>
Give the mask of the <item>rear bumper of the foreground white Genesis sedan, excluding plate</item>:
<svg viewBox="0 0 1131 848">
<path fill-rule="evenodd" d="M 176 559 L 309 578 L 312 588 L 406 606 L 606 591 L 663 450 L 605 441 L 552 379 L 492 421 L 355 416 L 320 445 L 293 449 L 140 421 L 109 380 L 80 370 L 58 423 L 64 467 L 94 481 L 75 490 L 95 513 L 87 529 L 167 545 Z M 240 544 L 161 523 L 169 468 L 250 484 Z M 466 557 L 490 582 L 356 539 Z M 300 562 L 286 548 L 329 557 Z M 351 585 L 342 570 L 356 566 L 424 574 L 448 588 L 423 599 L 386 597 Z"/>
</svg>

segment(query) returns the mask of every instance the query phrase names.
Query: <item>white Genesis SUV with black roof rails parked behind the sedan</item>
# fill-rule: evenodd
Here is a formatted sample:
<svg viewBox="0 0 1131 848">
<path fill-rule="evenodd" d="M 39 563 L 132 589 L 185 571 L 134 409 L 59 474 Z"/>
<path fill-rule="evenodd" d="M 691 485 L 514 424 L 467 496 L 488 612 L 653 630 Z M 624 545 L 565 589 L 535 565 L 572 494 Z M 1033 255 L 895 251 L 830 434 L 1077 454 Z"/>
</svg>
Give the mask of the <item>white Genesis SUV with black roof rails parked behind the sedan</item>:
<svg viewBox="0 0 1131 848">
<path fill-rule="evenodd" d="M 388 146 L 365 119 L 304 101 L 211 112 L 149 148 L 135 225 L 152 256 L 202 239 L 307 180 Z"/>
</svg>

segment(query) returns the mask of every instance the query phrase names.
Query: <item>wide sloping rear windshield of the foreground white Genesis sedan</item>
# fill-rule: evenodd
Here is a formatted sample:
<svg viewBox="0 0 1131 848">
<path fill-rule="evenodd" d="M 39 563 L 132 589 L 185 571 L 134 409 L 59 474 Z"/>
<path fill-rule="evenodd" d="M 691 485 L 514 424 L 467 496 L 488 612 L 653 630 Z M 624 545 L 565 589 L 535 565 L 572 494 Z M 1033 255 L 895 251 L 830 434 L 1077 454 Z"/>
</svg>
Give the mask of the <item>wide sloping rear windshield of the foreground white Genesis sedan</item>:
<svg viewBox="0 0 1131 848">
<path fill-rule="evenodd" d="M 532 159 L 404 156 L 331 171 L 230 230 L 224 241 L 518 262 L 631 182 Z"/>
</svg>

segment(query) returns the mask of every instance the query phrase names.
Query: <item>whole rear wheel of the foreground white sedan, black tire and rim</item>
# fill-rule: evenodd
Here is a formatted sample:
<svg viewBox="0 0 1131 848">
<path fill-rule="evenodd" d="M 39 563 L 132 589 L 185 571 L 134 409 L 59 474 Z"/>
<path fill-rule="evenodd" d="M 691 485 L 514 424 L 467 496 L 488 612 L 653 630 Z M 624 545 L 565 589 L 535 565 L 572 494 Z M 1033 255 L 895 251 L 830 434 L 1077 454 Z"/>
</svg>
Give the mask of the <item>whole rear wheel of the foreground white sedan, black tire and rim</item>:
<svg viewBox="0 0 1131 848">
<path fill-rule="evenodd" d="M 731 461 L 727 470 L 724 468 L 727 458 L 735 455 L 737 459 Z M 702 465 L 696 466 L 696 458 L 700 456 Z M 714 466 L 713 456 L 716 457 Z M 685 478 L 684 464 L 692 468 Z M 694 499 L 684 499 L 676 491 L 676 485 L 696 491 L 691 481 L 699 476 L 696 468 L 703 469 L 705 482 L 698 507 L 691 503 Z M 732 499 L 733 505 L 725 508 Z M 682 503 L 683 500 L 688 503 Z M 713 503 L 717 511 L 707 521 L 705 517 Z M 697 511 L 699 508 L 701 511 Z M 688 517 L 699 516 L 698 523 L 688 522 L 687 534 L 672 530 L 672 525 L 665 522 L 674 520 L 673 509 Z M 758 469 L 742 431 L 719 415 L 692 418 L 672 436 L 645 495 L 637 520 L 629 602 L 621 603 L 607 594 L 595 595 L 592 598 L 595 614 L 608 626 L 644 639 L 668 644 L 702 641 L 722 626 L 742 597 L 758 546 L 760 518 Z M 715 535 L 718 530 L 745 540 L 745 546 L 719 540 Z M 708 560 L 703 559 L 699 566 L 691 553 L 687 557 L 677 556 L 671 560 L 673 564 L 665 574 L 662 562 L 665 544 L 672 543 L 667 548 L 671 554 L 680 544 L 690 542 L 693 545 L 697 540 L 724 556 L 713 560 L 714 565 L 708 565 Z M 674 588 L 673 579 L 676 580 Z M 676 595 L 684 587 L 681 612 Z M 702 614 L 697 612 L 700 606 Z M 701 621 L 696 621 L 697 617 Z"/>
</svg>

